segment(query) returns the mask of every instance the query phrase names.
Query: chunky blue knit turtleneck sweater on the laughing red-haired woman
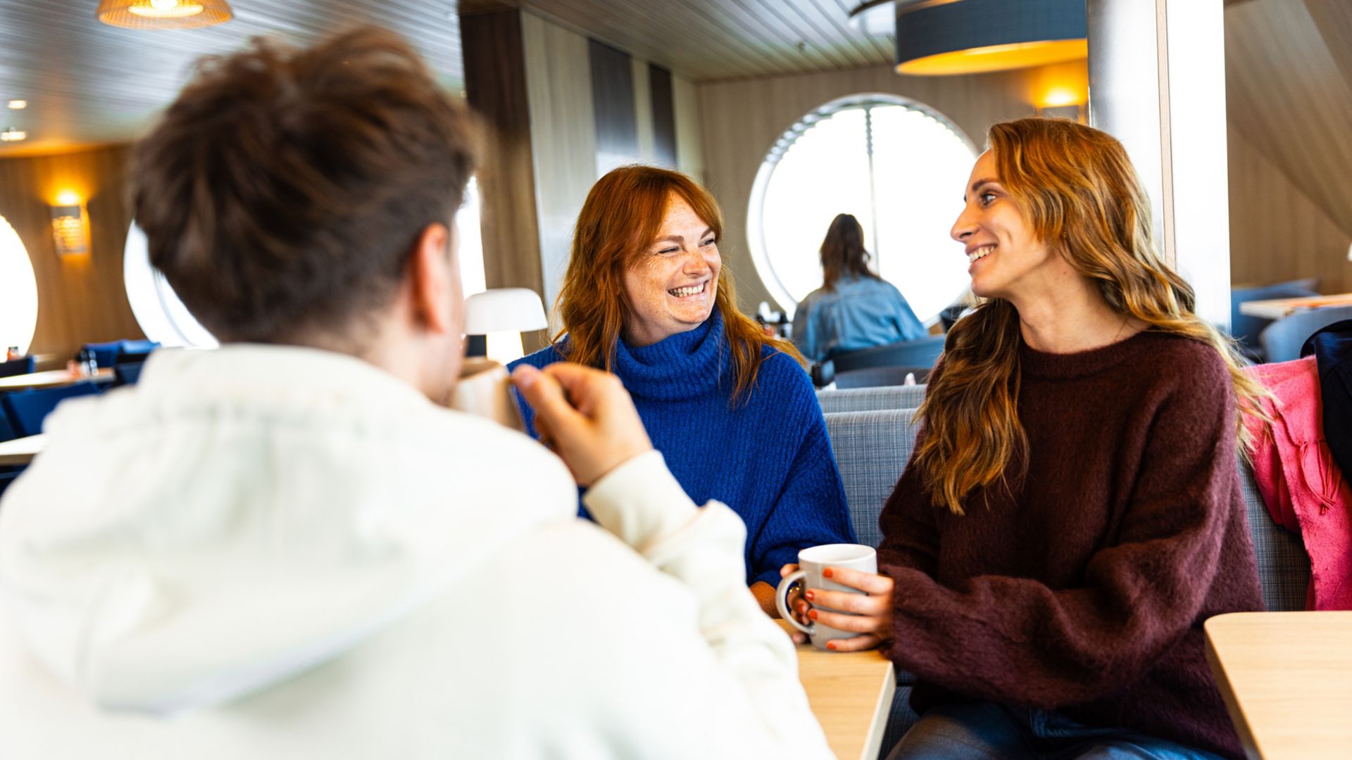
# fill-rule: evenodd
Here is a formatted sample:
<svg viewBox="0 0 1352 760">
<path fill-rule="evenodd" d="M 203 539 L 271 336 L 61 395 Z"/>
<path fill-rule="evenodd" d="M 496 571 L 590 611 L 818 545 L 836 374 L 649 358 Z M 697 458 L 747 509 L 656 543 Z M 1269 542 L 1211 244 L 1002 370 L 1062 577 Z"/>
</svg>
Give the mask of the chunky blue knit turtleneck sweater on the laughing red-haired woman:
<svg viewBox="0 0 1352 760">
<path fill-rule="evenodd" d="M 546 348 L 512 368 L 556 361 L 564 357 Z M 799 549 L 854 542 L 822 408 L 791 357 L 767 349 L 756 387 L 733 406 L 735 376 L 715 310 L 699 327 L 650 346 L 622 339 L 614 371 L 690 498 L 718 499 L 746 523 L 748 586 L 777 584 L 779 568 L 796 563 Z"/>
</svg>

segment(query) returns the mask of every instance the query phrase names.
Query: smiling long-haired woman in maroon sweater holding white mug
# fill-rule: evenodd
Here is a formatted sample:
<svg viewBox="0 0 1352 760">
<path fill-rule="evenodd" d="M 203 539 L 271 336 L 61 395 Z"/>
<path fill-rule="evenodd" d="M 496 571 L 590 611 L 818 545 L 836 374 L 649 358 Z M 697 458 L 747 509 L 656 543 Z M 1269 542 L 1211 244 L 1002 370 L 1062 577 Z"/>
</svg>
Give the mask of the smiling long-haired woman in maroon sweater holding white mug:
<svg viewBox="0 0 1352 760">
<path fill-rule="evenodd" d="M 1151 238 L 1121 143 L 995 124 L 949 333 L 868 595 L 808 615 L 918 680 L 909 757 L 1241 757 L 1202 622 L 1261 609 L 1234 468 L 1260 391 Z M 806 611 L 806 606 L 799 606 Z"/>
</svg>

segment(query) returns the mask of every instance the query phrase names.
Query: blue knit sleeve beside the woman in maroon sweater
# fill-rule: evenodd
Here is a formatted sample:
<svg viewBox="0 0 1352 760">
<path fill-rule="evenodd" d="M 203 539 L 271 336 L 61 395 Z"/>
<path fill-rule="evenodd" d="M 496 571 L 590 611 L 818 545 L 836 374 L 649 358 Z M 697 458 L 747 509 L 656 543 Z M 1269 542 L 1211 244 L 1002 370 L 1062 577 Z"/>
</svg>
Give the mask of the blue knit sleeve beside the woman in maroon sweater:
<svg viewBox="0 0 1352 760">
<path fill-rule="evenodd" d="M 826 418 L 811 380 L 784 354 L 769 357 L 765 369 L 771 369 L 772 361 L 794 364 L 783 379 L 775 379 L 783 388 L 783 399 L 776 402 L 776 407 L 786 415 L 784 429 L 799 438 L 771 513 L 748 546 L 748 586 L 757 580 L 779 584 L 779 568 L 796 563 L 800 549 L 856 541 L 845 484 L 831 454 Z M 771 388 L 767 383 L 765 391 Z"/>
</svg>

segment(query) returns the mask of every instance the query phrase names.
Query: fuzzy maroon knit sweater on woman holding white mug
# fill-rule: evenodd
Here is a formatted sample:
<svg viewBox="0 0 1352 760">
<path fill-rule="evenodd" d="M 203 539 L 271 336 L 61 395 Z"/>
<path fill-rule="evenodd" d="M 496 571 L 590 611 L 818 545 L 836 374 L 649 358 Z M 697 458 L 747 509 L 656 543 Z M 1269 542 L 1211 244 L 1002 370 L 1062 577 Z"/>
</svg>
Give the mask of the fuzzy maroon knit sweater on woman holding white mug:
<svg viewBox="0 0 1352 760">
<path fill-rule="evenodd" d="M 1026 477 L 959 517 L 909 467 L 879 518 L 911 706 L 1025 705 L 1242 757 L 1202 632 L 1263 609 L 1225 362 L 1140 333 L 1019 364 Z"/>
</svg>

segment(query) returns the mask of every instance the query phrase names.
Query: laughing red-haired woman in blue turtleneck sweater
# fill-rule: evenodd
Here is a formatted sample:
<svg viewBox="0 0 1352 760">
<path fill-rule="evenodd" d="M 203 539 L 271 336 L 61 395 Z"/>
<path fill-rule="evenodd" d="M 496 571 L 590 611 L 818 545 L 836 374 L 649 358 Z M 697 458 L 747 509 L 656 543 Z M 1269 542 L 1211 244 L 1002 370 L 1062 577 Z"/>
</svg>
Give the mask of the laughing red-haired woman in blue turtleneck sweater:
<svg viewBox="0 0 1352 760">
<path fill-rule="evenodd" d="M 854 533 L 802 358 L 737 310 L 722 233 L 718 203 L 690 177 L 610 172 L 577 216 L 562 330 L 521 361 L 618 375 L 685 492 L 746 523 L 746 583 L 772 611 L 780 565 Z"/>
</svg>

